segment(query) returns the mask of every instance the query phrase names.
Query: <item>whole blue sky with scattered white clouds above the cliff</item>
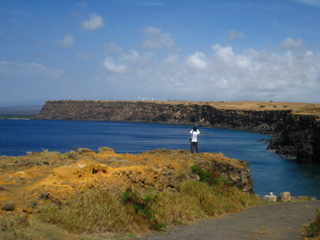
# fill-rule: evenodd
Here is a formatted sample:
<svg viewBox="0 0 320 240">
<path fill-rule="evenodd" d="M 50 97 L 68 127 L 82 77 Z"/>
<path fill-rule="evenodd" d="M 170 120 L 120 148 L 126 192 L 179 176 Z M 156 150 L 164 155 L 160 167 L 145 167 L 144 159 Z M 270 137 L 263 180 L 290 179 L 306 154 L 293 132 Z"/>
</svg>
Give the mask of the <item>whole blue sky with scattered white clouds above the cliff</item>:
<svg viewBox="0 0 320 240">
<path fill-rule="evenodd" d="M 0 0 L 0 106 L 319 90 L 320 0 Z"/>
</svg>

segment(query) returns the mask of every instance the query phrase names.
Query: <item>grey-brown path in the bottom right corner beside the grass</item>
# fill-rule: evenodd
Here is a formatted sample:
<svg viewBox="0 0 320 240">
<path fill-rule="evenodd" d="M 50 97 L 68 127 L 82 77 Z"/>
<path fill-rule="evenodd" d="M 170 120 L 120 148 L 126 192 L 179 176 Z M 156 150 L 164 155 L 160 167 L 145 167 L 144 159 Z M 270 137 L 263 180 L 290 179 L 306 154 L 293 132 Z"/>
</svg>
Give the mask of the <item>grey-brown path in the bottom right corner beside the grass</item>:
<svg viewBox="0 0 320 240">
<path fill-rule="evenodd" d="M 320 201 L 279 203 L 249 208 L 191 226 L 169 228 L 166 233 L 144 236 L 143 240 L 254 240 L 301 239 L 301 225 L 314 220 Z"/>
</svg>

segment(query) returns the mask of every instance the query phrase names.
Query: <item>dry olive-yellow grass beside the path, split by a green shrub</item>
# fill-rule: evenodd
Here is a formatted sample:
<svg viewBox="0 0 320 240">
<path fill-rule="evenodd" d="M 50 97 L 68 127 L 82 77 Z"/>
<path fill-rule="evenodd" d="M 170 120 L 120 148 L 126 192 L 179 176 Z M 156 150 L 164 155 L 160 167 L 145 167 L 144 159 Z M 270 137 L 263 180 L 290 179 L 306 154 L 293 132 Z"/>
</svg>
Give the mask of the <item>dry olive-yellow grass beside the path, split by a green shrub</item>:
<svg viewBox="0 0 320 240">
<path fill-rule="evenodd" d="M 137 194 L 154 195 L 146 190 Z M 132 206 L 124 204 L 121 201 L 122 195 L 110 191 L 88 191 L 82 198 L 76 198 L 62 208 L 56 205 L 44 208 L 41 219 L 78 234 L 149 231 L 151 226 L 148 219 Z M 195 180 L 183 183 L 178 192 L 158 193 L 157 199 L 151 206 L 153 216 L 159 224 L 167 226 L 237 212 L 261 203 L 258 196 L 243 193 L 236 187 L 225 189 L 223 186 L 209 186 Z"/>
</svg>

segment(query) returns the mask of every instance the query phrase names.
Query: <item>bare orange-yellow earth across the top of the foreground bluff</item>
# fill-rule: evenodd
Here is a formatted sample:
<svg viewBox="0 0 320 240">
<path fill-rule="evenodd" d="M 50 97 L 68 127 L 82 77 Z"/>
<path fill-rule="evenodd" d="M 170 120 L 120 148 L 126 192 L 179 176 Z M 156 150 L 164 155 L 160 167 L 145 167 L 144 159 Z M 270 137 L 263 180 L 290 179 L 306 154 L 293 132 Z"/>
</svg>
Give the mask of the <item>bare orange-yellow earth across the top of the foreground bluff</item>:
<svg viewBox="0 0 320 240">
<path fill-rule="evenodd" d="M 30 208 L 32 201 L 38 201 L 43 192 L 65 203 L 77 192 L 92 188 L 124 191 L 132 187 L 135 190 L 136 186 L 123 172 L 131 172 L 137 181 L 144 179 L 146 184 L 153 184 L 159 189 L 160 185 L 155 181 L 158 169 L 167 169 L 173 175 L 182 176 L 191 171 L 195 161 L 206 159 L 242 168 L 238 160 L 227 158 L 222 153 L 192 155 L 187 152 L 163 149 L 131 155 L 117 154 L 105 148 L 98 153 L 79 149 L 65 154 L 43 151 L 20 157 L 1 157 L 0 165 L 6 168 L 0 172 L 0 186 L 8 191 L 0 191 L 0 205 L 13 201 L 16 210 L 22 212 L 24 208 Z"/>
</svg>

